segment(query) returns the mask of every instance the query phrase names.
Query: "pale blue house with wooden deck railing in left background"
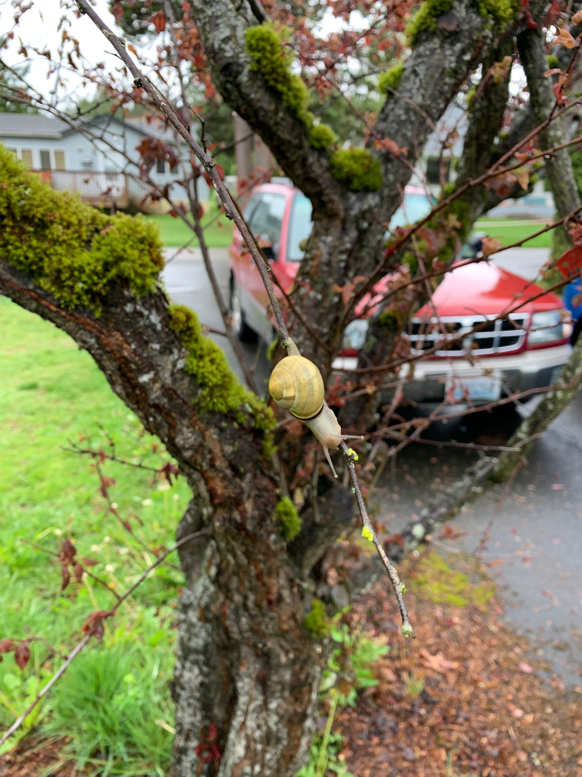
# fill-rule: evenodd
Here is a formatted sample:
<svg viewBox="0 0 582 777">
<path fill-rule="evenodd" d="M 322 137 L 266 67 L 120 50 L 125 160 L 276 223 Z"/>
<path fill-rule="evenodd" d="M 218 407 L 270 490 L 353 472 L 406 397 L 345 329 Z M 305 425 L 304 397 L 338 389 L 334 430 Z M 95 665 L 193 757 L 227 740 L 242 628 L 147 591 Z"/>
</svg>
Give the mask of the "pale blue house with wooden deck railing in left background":
<svg viewBox="0 0 582 777">
<path fill-rule="evenodd" d="M 165 200 L 152 203 L 144 199 L 151 187 L 139 179 L 136 147 L 144 138 L 154 138 L 171 145 L 178 159 L 189 159 L 187 147 L 183 141 L 176 143 L 171 128 L 155 117 L 120 119 L 110 114 L 76 124 L 71 127 L 43 113 L 0 113 L 0 143 L 30 169 L 40 171 L 54 189 L 78 192 L 88 204 L 110 207 L 115 203 L 147 213 L 170 210 Z M 171 171 L 169 163 L 160 159 L 149 174 L 160 188 L 170 183 L 171 199 L 187 206 L 184 187 L 175 183 L 182 178 L 180 167 L 178 162 Z M 202 178 L 198 196 L 208 204 L 209 187 Z"/>
</svg>

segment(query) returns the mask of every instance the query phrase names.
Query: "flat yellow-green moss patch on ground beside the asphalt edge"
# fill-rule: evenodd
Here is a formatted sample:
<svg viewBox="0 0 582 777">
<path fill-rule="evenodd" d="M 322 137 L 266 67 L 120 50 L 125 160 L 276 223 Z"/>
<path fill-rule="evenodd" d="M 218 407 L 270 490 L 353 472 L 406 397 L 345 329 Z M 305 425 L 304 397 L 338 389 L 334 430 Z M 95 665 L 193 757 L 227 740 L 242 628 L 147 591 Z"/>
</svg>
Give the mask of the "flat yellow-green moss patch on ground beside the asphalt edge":
<svg viewBox="0 0 582 777">
<path fill-rule="evenodd" d="M 473 584 L 466 574 L 452 569 L 442 556 L 434 552 L 424 556 L 409 577 L 413 591 L 438 604 L 456 607 L 473 605 L 485 609 L 495 594 L 493 582 L 483 580 Z"/>
</svg>

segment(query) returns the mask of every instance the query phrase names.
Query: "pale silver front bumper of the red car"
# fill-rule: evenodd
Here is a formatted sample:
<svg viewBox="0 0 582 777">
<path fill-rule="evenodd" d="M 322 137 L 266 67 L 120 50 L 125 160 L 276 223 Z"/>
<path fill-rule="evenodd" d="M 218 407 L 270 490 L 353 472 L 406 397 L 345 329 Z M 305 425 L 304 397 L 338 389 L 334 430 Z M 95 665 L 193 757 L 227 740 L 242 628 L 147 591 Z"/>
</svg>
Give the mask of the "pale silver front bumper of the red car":
<svg viewBox="0 0 582 777">
<path fill-rule="evenodd" d="M 542 389 L 553 385 L 557 375 L 566 363 L 572 347 L 559 345 L 549 348 L 525 350 L 521 354 L 504 354 L 476 359 L 471 362 L 466 359 L 424 359 L 400 368 L 399 378 L 412 378 L 404 385 L 404 399 L 414 402 L 442 402 L 445 399 L 445 384 L 454 376 L 459 378 L 478 375 L 499 375 L 501 377 L 501 393 L 504 396 L 514 392 L 524 392 L 529 389 Z M 335 370 L 354 369 L 358 366 L 357 358 L 338 358 L 332 368 Z M 394 378 L 390 378 L 393 382 Z M 388 382 L 388 381 L 386 381 Z M 383 402 L 388 402 L 395 389 L 387 389 L 382 393 Z M 486 404 L 487 400 L 476 400 L 475 405 Z"/>
</svg>

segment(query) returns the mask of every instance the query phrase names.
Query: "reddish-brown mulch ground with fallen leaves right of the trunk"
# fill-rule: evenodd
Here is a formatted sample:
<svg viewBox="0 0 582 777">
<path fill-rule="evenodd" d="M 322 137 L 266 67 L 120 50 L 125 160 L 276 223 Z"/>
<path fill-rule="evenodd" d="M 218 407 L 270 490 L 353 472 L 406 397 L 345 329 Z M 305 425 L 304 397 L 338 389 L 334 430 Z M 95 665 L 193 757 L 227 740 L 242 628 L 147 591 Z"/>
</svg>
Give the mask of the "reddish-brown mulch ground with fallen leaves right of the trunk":
<svg viewBox="0 0 582 777">
<path fill-rule="evenodd" d="M 388 635 L 379 685 L 336 716 L 342 756 L 357 777 L 582 777 L 582 695 L 566 692 L 532 646 L 501 623 L 489 584 L 468 589 L 475 563 L 435 584 L 431 556 L 404 568 L 417 639 L 406 646 L 384 581 L 352 623 Z M 450 582 L 452 581 L 452 583 Z M 484 594 L 484 595 L 483 595 Z M 450 601 L 464 599 L 462 606 Z M 435 601 L 437 600 L 437 601 Z"/>
</svg>

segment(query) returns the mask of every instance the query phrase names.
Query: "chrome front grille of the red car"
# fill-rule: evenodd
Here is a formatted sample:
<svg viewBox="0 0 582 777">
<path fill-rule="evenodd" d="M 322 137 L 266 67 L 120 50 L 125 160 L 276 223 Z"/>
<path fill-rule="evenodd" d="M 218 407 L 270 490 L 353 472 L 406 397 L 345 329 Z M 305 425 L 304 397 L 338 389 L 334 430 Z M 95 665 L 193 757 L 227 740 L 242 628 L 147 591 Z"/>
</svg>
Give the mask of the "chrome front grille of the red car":
<svg viewBox="0 0 582 777">
<path fill-rule="evenodd" d="M 435 356 L 463 357 L 467 354 L 506 354 L 519 350 L 524 343 L 528 316 L 510 313 L 507 318 L 491 321 L 486 315 L 440 319 L 411 319 L 404 336 L 414 354 L 435 350 Z M 478 331 L 473 329 L 479 327 Z M 449 340 L 455 340 L 449 342 Z"/>
</svg>

